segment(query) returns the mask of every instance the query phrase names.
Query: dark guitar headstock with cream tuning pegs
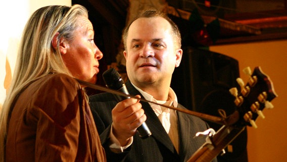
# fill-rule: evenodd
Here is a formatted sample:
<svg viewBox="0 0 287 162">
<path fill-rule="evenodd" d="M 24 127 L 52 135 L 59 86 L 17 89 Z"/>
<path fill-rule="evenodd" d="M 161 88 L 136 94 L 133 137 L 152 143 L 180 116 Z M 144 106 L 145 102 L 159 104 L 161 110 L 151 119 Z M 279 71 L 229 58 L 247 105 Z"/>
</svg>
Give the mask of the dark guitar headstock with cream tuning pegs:
<svg viewBox="0 0 287 162">
<path fill-rule="evenodd" d="M 248 83 L 245 85 L 241 78 L 237 78 L 237 83 L 241 87 L 240 92 L 238 93 L 236 88 L 230 89 L 240 114 L 237 124 L 257 128 L 255 120 L 258 116 L 265 118 L 262 110 L 273 108 L 271 100 L 277 95 L 269 76 L 264 74 L 260 67 L 255 67 L 253 72 L 248 67 L 244 69 L 244 72 L 249 75 Z"/>
</svg>

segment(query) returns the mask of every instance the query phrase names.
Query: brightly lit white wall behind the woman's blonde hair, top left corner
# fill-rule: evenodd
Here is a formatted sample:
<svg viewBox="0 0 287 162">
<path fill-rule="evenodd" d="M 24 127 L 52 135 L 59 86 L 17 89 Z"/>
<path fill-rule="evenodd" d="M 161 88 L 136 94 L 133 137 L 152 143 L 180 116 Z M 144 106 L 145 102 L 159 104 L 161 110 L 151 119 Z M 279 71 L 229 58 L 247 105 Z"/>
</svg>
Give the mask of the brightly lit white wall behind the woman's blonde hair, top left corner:
<svg viewBox="0 0 287 162">
<path fill-rule="evenodd" d="M 47 5 L 71 6 L 71 0 L 6 1 L 0 6 L 0 109 L 14 72 L 22 30 L 29 16 Z"/>
</svg>

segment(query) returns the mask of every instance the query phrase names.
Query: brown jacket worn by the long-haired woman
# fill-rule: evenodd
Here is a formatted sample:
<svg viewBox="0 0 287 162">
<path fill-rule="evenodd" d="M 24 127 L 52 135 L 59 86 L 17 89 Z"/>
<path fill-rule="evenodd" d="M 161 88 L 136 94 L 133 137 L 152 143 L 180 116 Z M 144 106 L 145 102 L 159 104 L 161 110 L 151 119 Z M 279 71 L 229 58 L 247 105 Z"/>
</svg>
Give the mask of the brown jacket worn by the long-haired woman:
<svg viewBox="0 0 287 162">
<path fill-rule="evenodd" d="M 75 79 L 51 74 L 20 94 L 8 125 L 6 161 L 106 161 Z"/>
</svg>

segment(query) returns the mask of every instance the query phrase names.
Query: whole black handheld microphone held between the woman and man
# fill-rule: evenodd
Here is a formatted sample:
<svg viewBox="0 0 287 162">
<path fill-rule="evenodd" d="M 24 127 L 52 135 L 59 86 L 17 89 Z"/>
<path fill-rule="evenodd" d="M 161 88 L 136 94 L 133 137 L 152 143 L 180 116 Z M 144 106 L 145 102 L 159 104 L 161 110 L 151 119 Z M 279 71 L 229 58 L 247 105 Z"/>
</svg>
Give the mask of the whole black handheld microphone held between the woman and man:
<svg viewBox="0 0 287 162">
<path fill-rule="evenodd" d="M 106 70 L 103 73 L 103 78 L 104 78 L 107 88 L 117 90 L 117 91 L 120 91 L 122 93 L 129 95 L 126 89 L 126 86 L 124 84 L 124 80 L 122 79 L 121 75 L 115 68 L 110 68 Z M 129 98 L 129 97 L 119 96 L 115 94 L 114 96 L 116 97 L 118 102 Z M 145 122 L 143 122 L 142 125 L 139 126 L 136 131 L 139 133 L 139 137 L 141 137 L 142 139 L 145 139 L 152 135 L 149 127 L 147 126 Z"/>
</svg>

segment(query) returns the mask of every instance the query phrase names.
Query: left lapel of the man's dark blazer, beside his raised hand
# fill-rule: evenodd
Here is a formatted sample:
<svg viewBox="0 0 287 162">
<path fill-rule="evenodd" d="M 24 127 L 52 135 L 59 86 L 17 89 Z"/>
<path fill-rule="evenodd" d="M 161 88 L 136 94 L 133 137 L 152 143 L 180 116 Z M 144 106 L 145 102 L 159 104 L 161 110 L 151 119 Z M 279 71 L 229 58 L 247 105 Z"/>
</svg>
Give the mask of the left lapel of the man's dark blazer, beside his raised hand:
<svg viewBox="0 0 287 162">
<path fill-rule="evenodd" d="M 129 80 L 126 82 L 126 87 L 127 87 L 128 91 L 131 95 L 134 95 L 134 96 L 135 95 L 141 95 L 131 85 Z M 142 101 L 140 101 L 140 103 L 142 104 L 142 108 L 143 108 L 143 110 L 145 110 L 145 114 L 147 115 L 146 124 L 149 127 L 150 131 L 152 132 L 152 136 L 156 140 L 161 142 L 164 146 L 166 146 L 172 153 L 176 153 L 176 150 L 175 150 L 168 134 L 166 133 L 166 131 L 163 128 L 159 118 L 157 117 L 156 113 L 154 112 L 154 110 L 152 109 L 150 104 L 147 102 L 142 102 Z M 151 137 L 149 137 L 149 138 L 151 138 Z"/>
</svg>

